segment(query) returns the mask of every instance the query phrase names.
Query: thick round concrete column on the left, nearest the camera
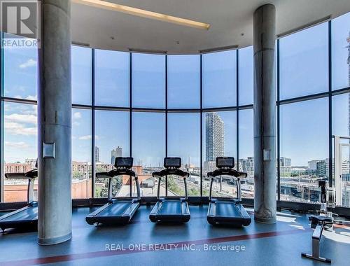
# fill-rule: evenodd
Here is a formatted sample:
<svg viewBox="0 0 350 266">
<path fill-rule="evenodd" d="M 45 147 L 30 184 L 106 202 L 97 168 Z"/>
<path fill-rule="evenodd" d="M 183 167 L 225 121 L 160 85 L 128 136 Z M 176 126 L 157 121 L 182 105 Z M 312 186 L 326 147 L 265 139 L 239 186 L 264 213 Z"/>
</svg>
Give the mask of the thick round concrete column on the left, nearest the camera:
<svg viewBox="0 0 350 266">
<path fill-rule="evenodd" d="M 71 239 L 71 1 L 41 1 L 38 244 Z M 43 143 L 55 158 L 43 158 Z"/>
</svg>

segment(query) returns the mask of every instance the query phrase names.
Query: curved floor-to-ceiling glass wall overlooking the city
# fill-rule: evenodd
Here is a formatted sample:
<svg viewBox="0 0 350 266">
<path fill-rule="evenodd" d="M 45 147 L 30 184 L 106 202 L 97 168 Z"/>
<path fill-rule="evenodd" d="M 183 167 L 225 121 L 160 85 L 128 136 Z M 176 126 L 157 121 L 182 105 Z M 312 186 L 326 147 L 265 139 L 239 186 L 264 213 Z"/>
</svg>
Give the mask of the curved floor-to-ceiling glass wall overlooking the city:
<svg viewBox="0 0 350 266">
<path fill-rule="evenodd" d="M 332 181 L 332 134 L 350 134 L 349 21 L 348 13 L 276 41 L 278 200 L 318 202 L 318 179 Z M 3 172 L 25 171 L 36 159 L 36 51 L 1 55 Z M 253 198 L 252 47 L 153 55 L 72 46 L 72 101 L 73 198 L 106 197 L 94 173 L 112 169 L 120 155 L 134 157 L 143 197 L 157 194 L 151 173 L 167 155 L 181 157 L 190 172 L 190 197 L 207 197 L 215 158 L 233 156 L 248 173 L 242 196 Z M 342 169 L 350 207 L 349 157 Z M 1 178 L 3 202 L 22 201 L 23 184 Z M 235 196 L 235 183 L 221 180 L 214 195 Z M 183 195 L 175 176 L 160 189 Z M 113 195 L 130 193 L 127 177 L 113 183 Z"/>
</svg>

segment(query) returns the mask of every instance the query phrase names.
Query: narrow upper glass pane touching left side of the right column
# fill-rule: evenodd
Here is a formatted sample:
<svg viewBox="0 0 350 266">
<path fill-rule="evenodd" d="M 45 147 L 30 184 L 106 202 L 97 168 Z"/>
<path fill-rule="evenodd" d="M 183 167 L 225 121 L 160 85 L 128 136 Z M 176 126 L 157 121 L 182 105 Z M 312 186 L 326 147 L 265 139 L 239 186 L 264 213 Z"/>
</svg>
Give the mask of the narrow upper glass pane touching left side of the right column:
<svg viewBox="0 0 350 266">
<path fill-rule="evenodd" d="M 253 104 L 253 46 L 239 52 L 239 105 Z"/>
</svg>

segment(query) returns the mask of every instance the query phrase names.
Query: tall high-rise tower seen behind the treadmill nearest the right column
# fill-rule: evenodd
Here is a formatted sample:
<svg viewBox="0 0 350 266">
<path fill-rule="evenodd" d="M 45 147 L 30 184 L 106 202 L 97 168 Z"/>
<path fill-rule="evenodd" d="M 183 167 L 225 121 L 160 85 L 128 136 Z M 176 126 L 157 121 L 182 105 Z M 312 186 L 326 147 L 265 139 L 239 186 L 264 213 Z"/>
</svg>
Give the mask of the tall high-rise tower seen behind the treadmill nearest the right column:
<svg viewBox="0 0 350 266">
<path fill-rule="evenodd" d="M 205 162 L 204 170 L 213 171 L 216 168 L 216 158 L 223 156 L 225 143 L 225 125 L 218 113 L 205 115 Z"/>
</svg>

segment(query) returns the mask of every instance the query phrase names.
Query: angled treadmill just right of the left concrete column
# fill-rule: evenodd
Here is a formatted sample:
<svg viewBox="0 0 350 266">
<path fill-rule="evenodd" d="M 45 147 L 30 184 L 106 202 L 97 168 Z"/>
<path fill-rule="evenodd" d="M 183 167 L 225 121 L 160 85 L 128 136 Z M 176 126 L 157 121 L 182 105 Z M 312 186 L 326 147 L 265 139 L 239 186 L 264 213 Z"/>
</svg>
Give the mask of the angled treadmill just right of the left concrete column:
<svg viewBox="0 0 350 266">
<path fill-rule="evenodd" d="M 116 169 L 110 172 L 96 173 L 96 177 L 99 179 L 109 179 L 109 195 L 108 202 L 104 204 L 104 206 L 86 216 L 85 220 L 89 225 L 125 225 L 130 223 L 132 216 L 134 216 L 137 209 L 139 209 L 141 201 L 139 179 L 137 174 L 132 171 L 133 161 L 134 159 L 131 157 L 117 157 L 114 165 Z M 116 176 L 122 176 L 123 174 L 134 176 L 137 187 L 137 198 L 130 195 L 131 197 L 113 199 L 112 179 Z"/>
</svg>

